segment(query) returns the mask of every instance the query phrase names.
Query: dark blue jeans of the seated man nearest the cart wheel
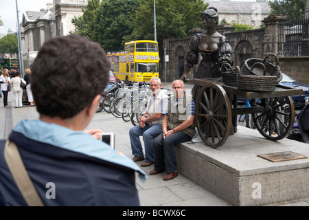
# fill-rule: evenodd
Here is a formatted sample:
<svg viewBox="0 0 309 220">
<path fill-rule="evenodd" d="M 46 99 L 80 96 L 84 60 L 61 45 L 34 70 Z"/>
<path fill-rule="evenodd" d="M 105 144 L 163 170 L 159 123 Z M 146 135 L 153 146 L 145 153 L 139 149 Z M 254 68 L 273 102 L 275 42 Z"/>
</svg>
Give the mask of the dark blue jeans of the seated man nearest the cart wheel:
<svg viewBox="0 0 309 220">
<path fill-rule="evenodd" d="M 164 170 L 166 173 L 176 171 L 176 153 L 177 144 L 192 140 L 192 137 L 183 131 L 176 132 L 163 139 L 163 133 L 153 140 L 155 151 L 155 170 Z"/>
</svg>

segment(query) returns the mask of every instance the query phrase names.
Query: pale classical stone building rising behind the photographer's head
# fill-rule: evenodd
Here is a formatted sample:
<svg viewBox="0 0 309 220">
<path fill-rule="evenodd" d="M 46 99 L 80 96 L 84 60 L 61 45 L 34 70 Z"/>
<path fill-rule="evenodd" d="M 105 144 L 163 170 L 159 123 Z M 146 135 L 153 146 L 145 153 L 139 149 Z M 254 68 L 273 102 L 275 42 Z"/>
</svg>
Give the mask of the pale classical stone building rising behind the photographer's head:
<svg viewBox="0 0 309 220">
<path fill-rule="evenodd" d="M 29 66 L 35 52 L 47 39 L 65 36 L 74 30 L 72 20 L 82 16 L 82 9 L 87 5 L 88 0 L 53 0 L 53 3 L 47 4 L 47 10 L 24 12 L 21 22 L 21 45 L 25 67 Z"/>
</svg>

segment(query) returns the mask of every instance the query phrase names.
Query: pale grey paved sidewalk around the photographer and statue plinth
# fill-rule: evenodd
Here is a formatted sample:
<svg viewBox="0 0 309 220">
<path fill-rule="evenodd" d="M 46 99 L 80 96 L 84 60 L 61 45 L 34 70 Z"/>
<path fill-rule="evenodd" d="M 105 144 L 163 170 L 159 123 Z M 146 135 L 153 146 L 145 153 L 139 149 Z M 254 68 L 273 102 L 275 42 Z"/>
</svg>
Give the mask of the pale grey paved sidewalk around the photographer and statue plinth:
<svg viewBox="0 0 309 220">
<path fill-rule="evenodd" d="M 3 103 L 2 98 L 0 102 Z M 12 93 L 9 94 L 8 102 L 12 108 L 4 108 L 3 104 L 0 107 L 0 138 L 7 138 L 12 127 L 22 119 L 38 118 L 36 107 L 14 108 Z M 102 111 L 95 113 L 88 129 L 102 129 L 115 133 L 115 149 L 128 157 L 133 157 L 128 135 L 132 126 L 131 122 L 124 122 L 122 118 L 115 118 L 112 114 Z M 137 163 L 141 164 L 142 162 Z M 149 173 L 153 169 L 153 165 L 143 169 Z M 141 206 L 231 206 L 182 175 L 170 181 L 164 181 L 163 175 L 164 173 L 149 175 L 145 183 L 141 183 L 137 178 L 136 186 L 139 190 Z M 309 199 L 274 203 L 268 206 L 309 206 Z"/>
</svg>

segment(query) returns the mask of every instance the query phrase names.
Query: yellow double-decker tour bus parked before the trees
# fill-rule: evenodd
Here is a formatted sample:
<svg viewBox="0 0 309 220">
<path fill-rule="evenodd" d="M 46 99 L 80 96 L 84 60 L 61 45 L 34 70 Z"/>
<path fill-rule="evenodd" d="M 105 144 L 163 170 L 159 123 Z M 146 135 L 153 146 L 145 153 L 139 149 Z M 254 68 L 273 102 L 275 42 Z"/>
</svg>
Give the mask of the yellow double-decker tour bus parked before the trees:
<svg viewBox="0 0 309 220">
<path fill-rule="evenodd" d="M 159 77 L 159 51 L 157 41 L 131 41 L 125 43 L 124 51 L 109 52 L 111 70 L 119 78 L 130 84 L 149 83 L 152 77 Z"/>
</svg>

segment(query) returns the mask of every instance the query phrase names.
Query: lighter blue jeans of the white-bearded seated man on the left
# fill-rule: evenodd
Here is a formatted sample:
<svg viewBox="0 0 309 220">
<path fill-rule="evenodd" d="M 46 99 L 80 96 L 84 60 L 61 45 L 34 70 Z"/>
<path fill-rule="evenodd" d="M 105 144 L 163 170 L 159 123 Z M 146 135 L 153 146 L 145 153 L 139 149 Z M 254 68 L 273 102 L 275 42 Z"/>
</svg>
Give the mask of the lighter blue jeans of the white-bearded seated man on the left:
<svg viewBox="0 0 309 220">
<path fill-rule="evenodd" d="M 162 124 L 152 124 L 151 126 L 145 123 L 144 129 L 142 129 L 139 124 L 130 129 L 130 142 L 132 148 L 132 154 L 136 157 L 144 156 L 143 148 L 141 146 L 141 141 L 139 136 L 143 135 L 144 145 L 145 145 L 145 162 L 154 161 L 153 152 L 153 138 L 157 137 L 162 133 Z"/>
</svg>

